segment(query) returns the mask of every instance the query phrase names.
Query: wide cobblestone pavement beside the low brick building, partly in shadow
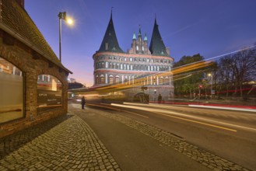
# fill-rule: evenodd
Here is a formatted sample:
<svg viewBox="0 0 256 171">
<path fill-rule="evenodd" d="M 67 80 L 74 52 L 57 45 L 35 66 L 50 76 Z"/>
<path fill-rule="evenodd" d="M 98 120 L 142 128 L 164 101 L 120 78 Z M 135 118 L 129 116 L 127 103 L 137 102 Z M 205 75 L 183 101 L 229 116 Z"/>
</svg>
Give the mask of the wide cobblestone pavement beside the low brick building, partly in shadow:
<svg viewBox="0 0 256 171">
<path fill-rule="evenodd" d="M 121 170 L 83 120 L 72 114 L 57 120 L 35 127 L 40 133 L 32 127 L 0 139 L 0 170 Z"/>
</svg>

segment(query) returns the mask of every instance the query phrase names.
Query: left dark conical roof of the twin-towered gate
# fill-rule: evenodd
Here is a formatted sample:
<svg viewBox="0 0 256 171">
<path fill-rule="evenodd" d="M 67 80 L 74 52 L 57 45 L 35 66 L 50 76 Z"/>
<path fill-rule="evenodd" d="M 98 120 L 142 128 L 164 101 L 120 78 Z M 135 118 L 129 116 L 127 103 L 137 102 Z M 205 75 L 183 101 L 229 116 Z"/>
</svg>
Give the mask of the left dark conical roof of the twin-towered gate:
<svg viewBox="0 0 256 171">
<path fill-rule="evenodd" d="M 107 30 L 105 36 L 103 37 L 102 43 L 100 45 L 99 52 L 102 51 L 111 51 L 111 52 L 121 52 L 121 48 L 119 47 L 117 36 L 114 31 L 114 24 L 112 20 L 112 11 L 110 16 L 110 22 L 108 23 Z"/>
</svg>

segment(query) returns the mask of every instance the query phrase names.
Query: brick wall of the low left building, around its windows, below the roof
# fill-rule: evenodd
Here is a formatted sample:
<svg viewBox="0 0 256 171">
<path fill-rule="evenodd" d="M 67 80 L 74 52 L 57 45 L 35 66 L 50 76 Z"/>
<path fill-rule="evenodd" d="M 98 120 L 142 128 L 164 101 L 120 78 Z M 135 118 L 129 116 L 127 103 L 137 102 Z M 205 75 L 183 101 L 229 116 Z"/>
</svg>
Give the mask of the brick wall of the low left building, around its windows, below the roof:
<svg viewBox="0 0 256 171">
<path fill-rule="evenodd" d="M 24 117 L 17 120 L 10 120 L 7 123 L 0 124 L 0 138 L 12 134 L 15 131 L 22 130 L 34 124 L 38 124 L 52 117 L 67 113 L 68 110 L 68 82 L 67 73 L 61 72 L 57 66 L 49 67 L 49 63 L 43 58 L 34 59 L 30 47 L 17 42 L 14 45 L 3 43 L 3 31 L 0 32 L 0 57 L 16 65 L 25 73 L 24 82 Z M 37 113 L 37 76 L 53 75 L 62 83 L 62 108 L 51 110 L 45 113 Z M 15 98 L 15 97 L 13 97 Z"/>
</svg>

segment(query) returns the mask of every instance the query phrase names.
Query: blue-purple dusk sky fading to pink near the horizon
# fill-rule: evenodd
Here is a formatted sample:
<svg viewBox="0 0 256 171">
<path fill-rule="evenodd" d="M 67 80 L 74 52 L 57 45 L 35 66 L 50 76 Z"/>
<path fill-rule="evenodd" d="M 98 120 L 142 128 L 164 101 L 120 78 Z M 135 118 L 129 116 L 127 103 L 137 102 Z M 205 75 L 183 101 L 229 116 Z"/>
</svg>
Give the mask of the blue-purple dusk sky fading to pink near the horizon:
<svg viewBox="0 0 256 171">
<path fill-rule="evenodd" d="M 256 42 L 256 0 L 25 0 L 26 12 L 58 56 L 58 12 L 62 22 L 61 62 L 70 78 L 93 86 L 93 54 L 99 50 L 113 7 L 114 29 L 123 51 L 132 35 L 151 40 L 156 16 L 160 34 L 174 61 L 184 55 L 213 58 Z"/>
</svg>

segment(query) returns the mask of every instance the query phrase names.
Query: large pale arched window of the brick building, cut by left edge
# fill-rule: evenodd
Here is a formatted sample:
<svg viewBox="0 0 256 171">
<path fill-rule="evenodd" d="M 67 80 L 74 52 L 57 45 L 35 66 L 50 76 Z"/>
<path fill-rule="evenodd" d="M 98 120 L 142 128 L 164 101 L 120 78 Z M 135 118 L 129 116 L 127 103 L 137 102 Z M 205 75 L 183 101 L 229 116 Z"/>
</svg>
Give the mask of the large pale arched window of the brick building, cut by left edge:
<svg viewBox="0 0 256 171">
<path fill-rule="evenodd" d="M 23 72 L 0 58 L 0 124 L 23 117 Z"/>
</svg>

